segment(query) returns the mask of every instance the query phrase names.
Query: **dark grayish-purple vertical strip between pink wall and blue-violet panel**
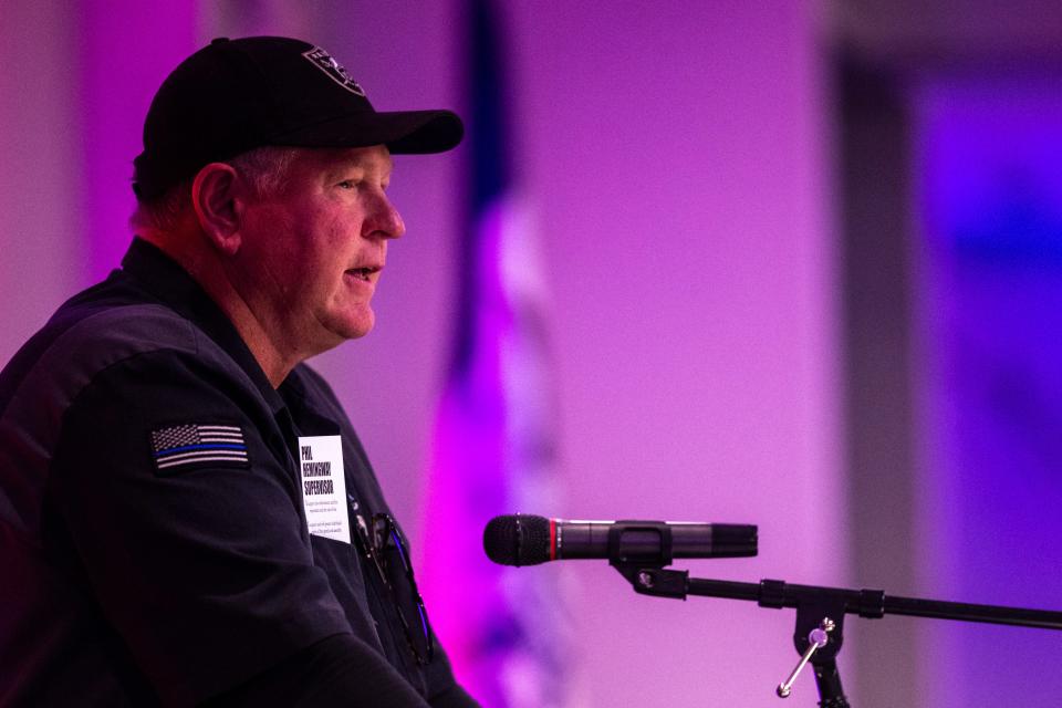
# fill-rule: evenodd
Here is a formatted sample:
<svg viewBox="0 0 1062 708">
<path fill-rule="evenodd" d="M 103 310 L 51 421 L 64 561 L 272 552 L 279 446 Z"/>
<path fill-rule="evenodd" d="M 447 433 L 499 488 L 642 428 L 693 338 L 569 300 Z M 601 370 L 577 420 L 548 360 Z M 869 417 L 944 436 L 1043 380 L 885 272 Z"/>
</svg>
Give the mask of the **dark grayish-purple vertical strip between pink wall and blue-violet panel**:
<svg viewBox="0 0 1062 708">
<path fill-rule="evenodd" d="M 915 590 L 912 362 L 912 148 L 903 77 L 850 52 L 835 63 L 852 577 Z M 851 622 L 839 657 L 858 676 L 853 705 L 916 706 L 916 623 Z"/>
</svg>

